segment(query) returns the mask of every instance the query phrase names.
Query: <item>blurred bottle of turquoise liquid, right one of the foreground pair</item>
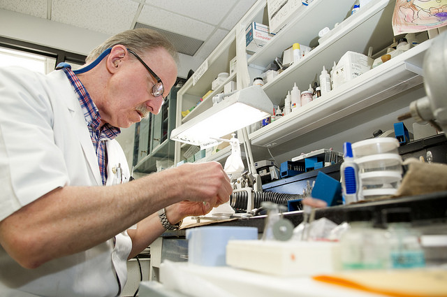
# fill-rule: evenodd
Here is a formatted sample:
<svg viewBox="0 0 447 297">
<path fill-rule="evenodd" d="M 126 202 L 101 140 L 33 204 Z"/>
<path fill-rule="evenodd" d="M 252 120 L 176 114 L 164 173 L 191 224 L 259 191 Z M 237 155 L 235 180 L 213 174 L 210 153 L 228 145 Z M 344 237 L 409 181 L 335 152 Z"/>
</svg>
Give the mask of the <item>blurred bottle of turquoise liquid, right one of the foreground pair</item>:
<svg viewBox="0 0 447 297">
<path fill-rule="evenodd" d="M 383 210 L 387 224 L 389 265 L 392 269 L 425 267 L 425 254 L 420 245 L 420 233 L 411 227 L 409 208 Z"/>
</svg>

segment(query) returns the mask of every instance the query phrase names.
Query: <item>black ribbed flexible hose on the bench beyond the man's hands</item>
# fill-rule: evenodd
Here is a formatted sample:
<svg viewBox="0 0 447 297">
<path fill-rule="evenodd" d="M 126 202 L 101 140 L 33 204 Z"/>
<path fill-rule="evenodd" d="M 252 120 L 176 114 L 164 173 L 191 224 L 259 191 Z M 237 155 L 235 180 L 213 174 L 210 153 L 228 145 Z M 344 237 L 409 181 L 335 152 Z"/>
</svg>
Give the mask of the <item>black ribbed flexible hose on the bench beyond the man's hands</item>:
<svg viewBox="0 0 447 297">
<path fill-rule="evenodd" d="M 260 208 L 261 203 L 269 201 L 276 204 L 287 205 L 288 201 L 302 199 L 302 195 L 299 194 L 284 194 L 272 191 L 254 192 L 254 205 L 253 208 Z M 231 194 L 230 204 L 235 210 L 247 210 L 247 191 L 238 191 Z"/>
</svg>

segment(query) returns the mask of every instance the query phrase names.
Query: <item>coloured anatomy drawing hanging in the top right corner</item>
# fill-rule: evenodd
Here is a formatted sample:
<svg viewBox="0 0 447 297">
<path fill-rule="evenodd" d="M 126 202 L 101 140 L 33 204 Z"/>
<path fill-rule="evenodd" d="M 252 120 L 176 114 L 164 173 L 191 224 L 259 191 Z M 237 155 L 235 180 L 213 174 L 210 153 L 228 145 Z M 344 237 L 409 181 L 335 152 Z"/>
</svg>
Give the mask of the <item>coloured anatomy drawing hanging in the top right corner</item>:
<svg viewBox="0 0 447 297">
<path fill-rule="evenodd" d="M 415 33 L 447 25 L 447 0 L 396 0 L 395 35 Z"/>
</svg>

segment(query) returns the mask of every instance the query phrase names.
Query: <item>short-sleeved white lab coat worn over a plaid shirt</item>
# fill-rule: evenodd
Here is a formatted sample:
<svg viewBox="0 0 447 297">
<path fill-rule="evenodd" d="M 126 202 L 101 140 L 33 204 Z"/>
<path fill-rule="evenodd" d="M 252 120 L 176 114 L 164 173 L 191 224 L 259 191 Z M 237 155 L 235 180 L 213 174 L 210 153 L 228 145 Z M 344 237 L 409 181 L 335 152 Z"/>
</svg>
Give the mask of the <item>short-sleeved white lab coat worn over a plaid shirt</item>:
<svg viewBox="0 0 447 297">
<path fill-rule="evenodd" d="M 107 150 L 108 176 L 121 164 L 129 180 L 117 141 L 108 141 Z M 0 184 L 0 220 L 57 187 L 102 186 L 87 124 L 64 71 L 0 68 Z M 131 251 L 126 232 L 116 238 L 115 247 L 110 239 L 33 270 L 17 265 L 0 246 L 0 296 L 116 296 L 116 275 L 123 288 Z"/>
</svg>

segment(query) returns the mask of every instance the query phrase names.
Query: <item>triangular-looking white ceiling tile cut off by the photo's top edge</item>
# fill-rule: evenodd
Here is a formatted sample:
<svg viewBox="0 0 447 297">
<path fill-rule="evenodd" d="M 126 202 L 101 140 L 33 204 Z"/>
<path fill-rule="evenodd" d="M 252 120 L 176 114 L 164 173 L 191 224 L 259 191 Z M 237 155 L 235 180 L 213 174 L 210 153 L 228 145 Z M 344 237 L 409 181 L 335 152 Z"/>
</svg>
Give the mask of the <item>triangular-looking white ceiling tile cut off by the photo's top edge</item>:
<svg viewBox="0 0 447 297">
<path fill-rule="evenodd" d="M 236 0 L 147 0 L 146 3 L 179 15 L 193 17 L 208 24 L 217 25 L 233 8 Z"/>
</svg>

